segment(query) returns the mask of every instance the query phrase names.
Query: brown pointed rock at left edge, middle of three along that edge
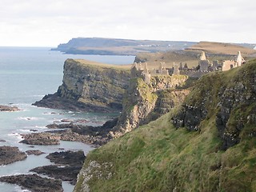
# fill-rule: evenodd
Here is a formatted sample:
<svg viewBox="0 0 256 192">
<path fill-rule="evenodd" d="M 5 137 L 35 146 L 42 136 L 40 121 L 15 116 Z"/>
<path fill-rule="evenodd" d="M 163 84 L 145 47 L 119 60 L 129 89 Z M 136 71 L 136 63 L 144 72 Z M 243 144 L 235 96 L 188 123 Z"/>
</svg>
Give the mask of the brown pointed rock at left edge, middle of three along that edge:
<svg viewBox="0 0 256 192">
<path fill-rule="evenodd" d="M 22 161 L 26 157 L 26 153 L 18 150 L 16 146 L 0 146 L 0 165 Z"/>
</svg>

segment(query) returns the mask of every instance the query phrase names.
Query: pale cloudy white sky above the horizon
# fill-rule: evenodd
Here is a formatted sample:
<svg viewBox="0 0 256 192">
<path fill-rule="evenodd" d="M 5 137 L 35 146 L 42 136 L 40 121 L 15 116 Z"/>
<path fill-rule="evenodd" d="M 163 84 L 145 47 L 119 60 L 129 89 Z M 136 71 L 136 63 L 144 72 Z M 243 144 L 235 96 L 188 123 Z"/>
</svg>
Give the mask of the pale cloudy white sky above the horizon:
<svg viewBox="0 0 256 192">
<path fill-rule="evenodd" d="M 0 46 L 71 38 L 256 43 L 253 0 L 1 0 Z"/>
</svg>

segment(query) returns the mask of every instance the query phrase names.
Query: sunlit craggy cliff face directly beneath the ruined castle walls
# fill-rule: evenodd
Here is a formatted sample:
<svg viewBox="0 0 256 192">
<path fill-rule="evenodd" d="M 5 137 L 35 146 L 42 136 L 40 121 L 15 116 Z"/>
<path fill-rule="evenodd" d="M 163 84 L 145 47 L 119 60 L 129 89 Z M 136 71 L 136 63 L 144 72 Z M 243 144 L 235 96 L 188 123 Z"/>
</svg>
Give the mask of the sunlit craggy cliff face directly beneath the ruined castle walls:
<svg viewBox="0 0 256 192">
<path fill-rule="evenodd" d="M 182 86 L 186 79 L 182 75 L 159 75 L 151 77 L 149 84 L 142 78 L 131 79 L 122 103 L 122 114 L 112 136 L 126 134 L 181 103 L 189 91 L 175 90 L 175 87 Z"/>
</svg>

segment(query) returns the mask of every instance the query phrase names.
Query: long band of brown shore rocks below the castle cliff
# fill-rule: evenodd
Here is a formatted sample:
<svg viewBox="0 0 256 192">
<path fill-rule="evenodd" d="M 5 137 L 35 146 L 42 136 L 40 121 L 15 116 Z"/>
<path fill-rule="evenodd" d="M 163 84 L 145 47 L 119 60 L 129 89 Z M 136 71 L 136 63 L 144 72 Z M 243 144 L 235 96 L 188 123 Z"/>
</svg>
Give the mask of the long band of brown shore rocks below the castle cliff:
<svg viewBox="0 0 256 192">
<path fill-rule="evenodd" d="M 60 141 L 70 141 L 83 142 L 87 145 L 98 147 L 112 139 L 109 133 L 117 122 L 118 118 L 107 121 L 102 126 L 84 126 L 72 122 L 54 123 L 46 126 L 52 130 L 41 133 L 22 134 L 23 140 L 20 143 L 47 146 L 59 145 Z"/>
</svg>

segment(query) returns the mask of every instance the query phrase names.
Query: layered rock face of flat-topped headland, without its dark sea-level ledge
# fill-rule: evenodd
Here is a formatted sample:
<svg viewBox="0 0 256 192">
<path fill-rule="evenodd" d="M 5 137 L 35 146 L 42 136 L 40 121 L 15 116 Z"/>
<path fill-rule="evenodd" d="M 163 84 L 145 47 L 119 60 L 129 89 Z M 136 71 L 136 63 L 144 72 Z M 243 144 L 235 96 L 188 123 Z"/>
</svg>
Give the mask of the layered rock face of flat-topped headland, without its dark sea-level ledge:
<svg viewBox="0 0 256 192">
<path fill-rule="evenodd" d="M 64 64 L 63 83 L 58 88 L 58 93 L 79 102 L 120 110 L 129 78 L 127 70 L 82 65 L 69 59 Z"/>
</svg>

